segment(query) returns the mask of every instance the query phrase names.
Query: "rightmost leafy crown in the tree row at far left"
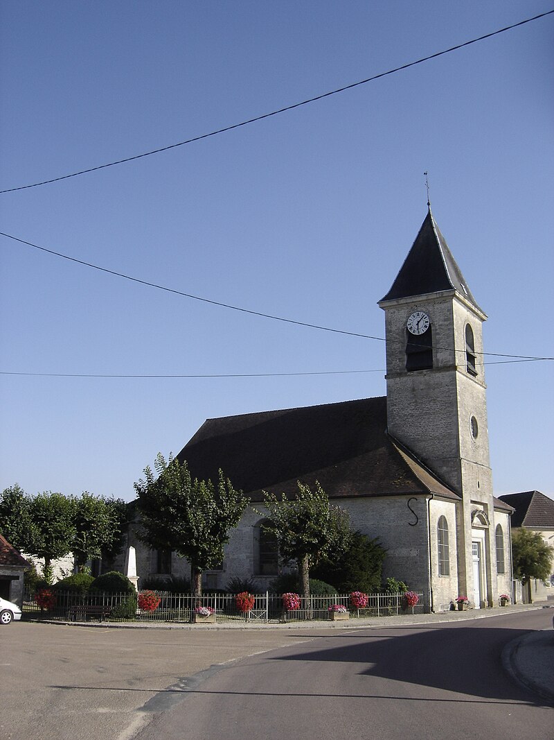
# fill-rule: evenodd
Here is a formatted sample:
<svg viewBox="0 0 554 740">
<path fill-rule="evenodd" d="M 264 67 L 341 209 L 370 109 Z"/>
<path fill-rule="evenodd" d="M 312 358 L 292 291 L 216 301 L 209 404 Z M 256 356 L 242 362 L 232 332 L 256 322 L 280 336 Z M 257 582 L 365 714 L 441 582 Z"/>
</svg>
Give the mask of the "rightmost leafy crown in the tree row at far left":
<svg viewBox="0 0 554 740">
<path fill-rule="evenodd" d="M 93 496 L 88 491 L 73 499 L 75 533 L 71 550 L 78 568 L 120 542 L 122 505 L 125 502 Z"/>
</svg>

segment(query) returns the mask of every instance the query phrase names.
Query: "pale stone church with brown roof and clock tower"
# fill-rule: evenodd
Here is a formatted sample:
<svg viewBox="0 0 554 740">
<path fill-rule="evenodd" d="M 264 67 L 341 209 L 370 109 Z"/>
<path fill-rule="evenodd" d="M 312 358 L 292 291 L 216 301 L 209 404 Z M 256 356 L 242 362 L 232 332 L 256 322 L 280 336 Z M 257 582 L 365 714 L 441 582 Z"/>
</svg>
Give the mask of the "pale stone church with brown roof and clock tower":
<svg viewBox="0 0 554 740">
<path fill-rule="evenodd" d="M 510 513 L 493 496 L 482 324 L 431 209 L 388 292 L 386 397 L 209 419 L 177 456 L 194 477 L 219 468 L 252 506 L 204 588 L 278 574 L 261 525 L 264 491 L 294 496 L 317 480 L 352 527 L 387 550 L 383 577 L 421 590 L 425 609 L 457 596 L 490 608 L 511 593 Z M 140 551 L 140 552 L 139 552 Z M 139 575 L 177 573 L 173 554 L 137 545 Z M 182 571 L 179 564 L 179 574 Z"/>
</svg>

